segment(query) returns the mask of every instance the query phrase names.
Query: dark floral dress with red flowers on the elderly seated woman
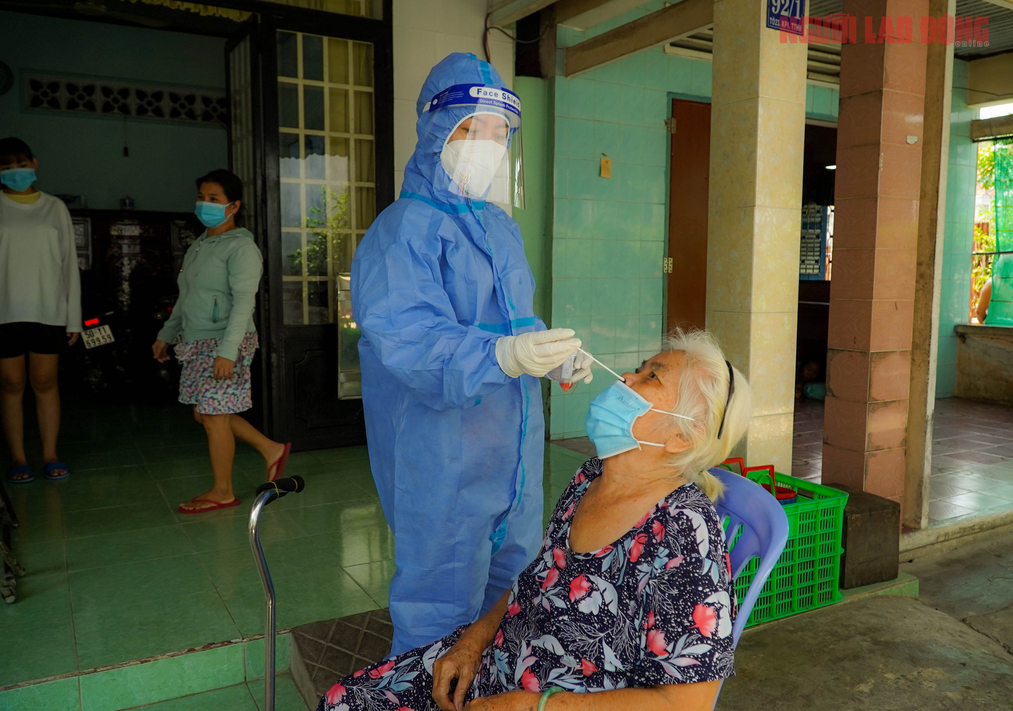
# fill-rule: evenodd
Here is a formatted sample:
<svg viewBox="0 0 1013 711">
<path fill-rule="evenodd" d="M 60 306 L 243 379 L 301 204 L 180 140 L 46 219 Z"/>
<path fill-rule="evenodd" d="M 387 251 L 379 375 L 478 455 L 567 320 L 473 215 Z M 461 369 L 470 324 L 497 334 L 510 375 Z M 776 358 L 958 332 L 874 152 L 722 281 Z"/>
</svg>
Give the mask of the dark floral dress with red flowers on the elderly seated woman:
<svg viewBox="0 0 1013 711">
<path fill-rule="evenodd" d="M 598 692 L 734 674 L 734 588 L 710 500 L 695 484 L 680 486 L 612 545 L 574 553 L 573 511 L 601 474 L 602 460 L 588 461 L 560 497 L 539 556 L 511 590 L 469 701 L 519 688 Z M 345 677 L 318 711 L 437 709 L 433 662 L 465 627 Z"/>
</svg>

